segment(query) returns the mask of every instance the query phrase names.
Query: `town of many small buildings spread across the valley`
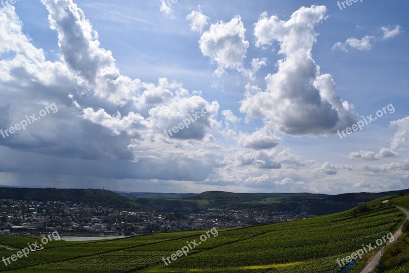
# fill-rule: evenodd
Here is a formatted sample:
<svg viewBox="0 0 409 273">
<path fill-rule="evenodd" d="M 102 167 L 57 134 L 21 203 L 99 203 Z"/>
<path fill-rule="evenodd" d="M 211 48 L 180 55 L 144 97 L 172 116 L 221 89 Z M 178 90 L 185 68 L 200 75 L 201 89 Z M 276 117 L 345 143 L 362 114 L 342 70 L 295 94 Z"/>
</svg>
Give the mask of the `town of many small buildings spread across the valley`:
<svg viewBox="0 0 409 273">
<path fill-rule="evenodd" d="M 209 208 L 192 214 L 120 211 L 83 202 L 0 199 L 0 235 L 40 235 L 57 230 L 62 236 L 131 236 L 212 227 L 244 227 L 308 217 L 300 213 L 236 211 Z"/>
</svg>

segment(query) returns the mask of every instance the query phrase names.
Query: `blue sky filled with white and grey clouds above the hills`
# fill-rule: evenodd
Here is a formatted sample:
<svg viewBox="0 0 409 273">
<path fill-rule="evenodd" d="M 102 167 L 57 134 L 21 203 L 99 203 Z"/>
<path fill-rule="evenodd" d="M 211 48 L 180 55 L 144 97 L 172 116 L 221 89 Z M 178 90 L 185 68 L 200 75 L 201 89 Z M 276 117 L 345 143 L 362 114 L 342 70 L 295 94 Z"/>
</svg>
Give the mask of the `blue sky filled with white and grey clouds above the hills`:
<svg viewBox="0 0 409 273">
<path fill-rule="evenodd" d="M 409 3 L 348 3 L 3 0 L 0 184 L 409 188 Z"/>
</svg>

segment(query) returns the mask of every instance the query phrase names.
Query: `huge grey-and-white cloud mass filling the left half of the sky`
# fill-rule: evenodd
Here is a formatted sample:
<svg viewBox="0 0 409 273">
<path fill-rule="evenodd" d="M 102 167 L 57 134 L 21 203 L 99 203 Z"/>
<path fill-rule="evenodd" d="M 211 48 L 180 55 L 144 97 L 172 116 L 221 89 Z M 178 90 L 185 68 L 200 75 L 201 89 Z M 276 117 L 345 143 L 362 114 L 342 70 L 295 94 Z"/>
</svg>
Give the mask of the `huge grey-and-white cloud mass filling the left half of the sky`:
<svg viewBox="0 0 409 273">
<path fill-rule="evenodd" d="M 46 60 L 43 50 L 22 32 L 12 5 L 0 8 L 0 128 L 52 103 L 58 113 L 2 140 L 3 155 L 18 158 L 16 162 L 33 155 L 31 160 L 43 167 L 30 171 L 44 176 L 206 179 L 216 156 L 199 149 L 216 147 L 210 130 L 219 124 L 217 101 L 208 102 L 199 91 L 191 95 L 181 83 L 163 77 L 148 83 L 121 75 L 77 5 L 71 0 L 42 3 L 49 11 L 50 27 L 58 33 L 61 54 L 55 61 Z M 203 108 L 206 114 L 190 128 L 166 139 L 165 129 Z M 195 165 L 200 170 L 193 171 Z"/>
</svg>

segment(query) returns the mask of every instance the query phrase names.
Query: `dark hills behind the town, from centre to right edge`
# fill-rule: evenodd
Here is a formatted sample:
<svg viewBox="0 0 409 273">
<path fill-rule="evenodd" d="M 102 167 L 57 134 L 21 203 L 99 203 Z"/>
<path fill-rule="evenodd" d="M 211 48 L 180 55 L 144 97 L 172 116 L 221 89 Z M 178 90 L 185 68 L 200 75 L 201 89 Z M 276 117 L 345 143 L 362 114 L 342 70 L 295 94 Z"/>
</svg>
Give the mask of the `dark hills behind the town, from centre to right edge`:
<svg viewBox="0 0 409 273">
<path fill-rule="evenodd" d="M 409 190 L 404 190 L 409 193 Z M 311 215 L 343 212 L 360 203 L 385 196 L 397 195 L 398 191 L 383 193 L 347 193 L 339 195 L 310 193 L 229 193 L 203 192 L 200 194 L 147 194 L 127 193 L 124 196 L 147 208 L 160 212 L 197 213 L 208 208 L 232 208 L 245 211 L 299 211 L 302 205 L 310 207 Z"/>
</svg>

